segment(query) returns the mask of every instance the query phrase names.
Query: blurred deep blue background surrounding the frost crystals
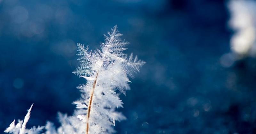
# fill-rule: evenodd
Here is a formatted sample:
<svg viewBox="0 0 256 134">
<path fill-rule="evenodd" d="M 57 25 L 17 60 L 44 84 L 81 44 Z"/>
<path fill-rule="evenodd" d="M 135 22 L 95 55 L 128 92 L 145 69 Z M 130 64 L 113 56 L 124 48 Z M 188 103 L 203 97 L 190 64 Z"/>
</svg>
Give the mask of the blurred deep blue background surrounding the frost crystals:
<svg viewBox="0 0 256 134">
<path fill-rule="evenodd" d="M 226 2 L 0 0 L 0 133 L 32 103 L 28 127 L 72 115 L 86 82 L 71 73 L 76 43 L 100 47 L 116 24 L 126 52 L 147 62 L 120 96 L 117 133 L 256 133 L 254 60 L 220 64 L 233 33 Z"/>
</svg>

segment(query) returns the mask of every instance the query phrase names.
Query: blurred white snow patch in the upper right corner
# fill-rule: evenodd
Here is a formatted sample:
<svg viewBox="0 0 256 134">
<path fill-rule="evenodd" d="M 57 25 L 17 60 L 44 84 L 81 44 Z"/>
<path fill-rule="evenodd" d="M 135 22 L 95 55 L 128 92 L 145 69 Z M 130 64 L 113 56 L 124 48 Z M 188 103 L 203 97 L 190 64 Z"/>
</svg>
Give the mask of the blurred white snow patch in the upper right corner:
<svg viewBox="0 0 256 134">
<path fill-rule="evenodd" d="M 230 0 L 229 26 L 235 31 L 230 48 L 236 60 L 256 55 L 256 2 L 252 0 Z M 224 65 L 226 66 L 226 65 Z M 229 65 L 228 65 L 229 66 Z"/>
</svg>

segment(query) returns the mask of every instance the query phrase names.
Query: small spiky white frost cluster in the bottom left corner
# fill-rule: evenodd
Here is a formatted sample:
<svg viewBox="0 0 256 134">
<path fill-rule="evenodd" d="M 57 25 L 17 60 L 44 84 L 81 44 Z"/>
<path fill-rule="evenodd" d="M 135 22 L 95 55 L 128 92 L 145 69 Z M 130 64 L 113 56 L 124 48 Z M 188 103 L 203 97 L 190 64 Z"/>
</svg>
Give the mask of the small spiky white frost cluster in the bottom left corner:
<svg viewBox="0 0 256 134">
<path fill-rule="evenodd" d="M 38 126 L 37 128 L 34 126 L 31 129 L 26 129 L 26 124 L 28 123 L 28 120 L 30 118 L 30 111 L 33 107 L 33 104 L 31 107 L 28 109 L 28 113 L 24 118 L 24 121 L 18 120 L 18 123 L 15 125 L 15 120 L 10 124 L 6 130 L 4 130 L 5 133 L 10 133 L 10 134 L 38 134 L 40 133 L 43 129 L 44 126 Z"/>
</svg>

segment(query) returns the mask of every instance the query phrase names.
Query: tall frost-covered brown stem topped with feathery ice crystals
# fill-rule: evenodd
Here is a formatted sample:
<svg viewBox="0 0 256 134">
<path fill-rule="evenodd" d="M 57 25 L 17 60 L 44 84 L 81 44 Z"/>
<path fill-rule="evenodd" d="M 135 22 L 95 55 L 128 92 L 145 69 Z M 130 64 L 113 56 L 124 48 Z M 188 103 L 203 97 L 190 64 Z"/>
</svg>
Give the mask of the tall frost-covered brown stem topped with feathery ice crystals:
<svg viewBox="0 0 256 134">
<path fill-rule="evenodd" d="M 132 54 L 127 58 L 123 51 L 129 42 L 121 36 L 114 26 L 107 35 L 104 34 L 105 42 L 100 43 L 100 49 L 89 51 L 88 46 L 77 44 L 80 65 L 73 73 L 85 78 L 87 83 L 77 87 L 82 94 L 73 102 L 77 108 L 74 115 L 59 115 L 61 126 L 56 133 L 113 133 L 112 126 L 116 121 L 125 119 L 116 111 L 123 107 L 117 90 L 121 93 L 129 90 L 128 75 L 133 77 L 145 62 L 137 56 L 133 59 Z M 47 131 L 54 130 L 50 123 L 46 126 Z"/>
</svg>

